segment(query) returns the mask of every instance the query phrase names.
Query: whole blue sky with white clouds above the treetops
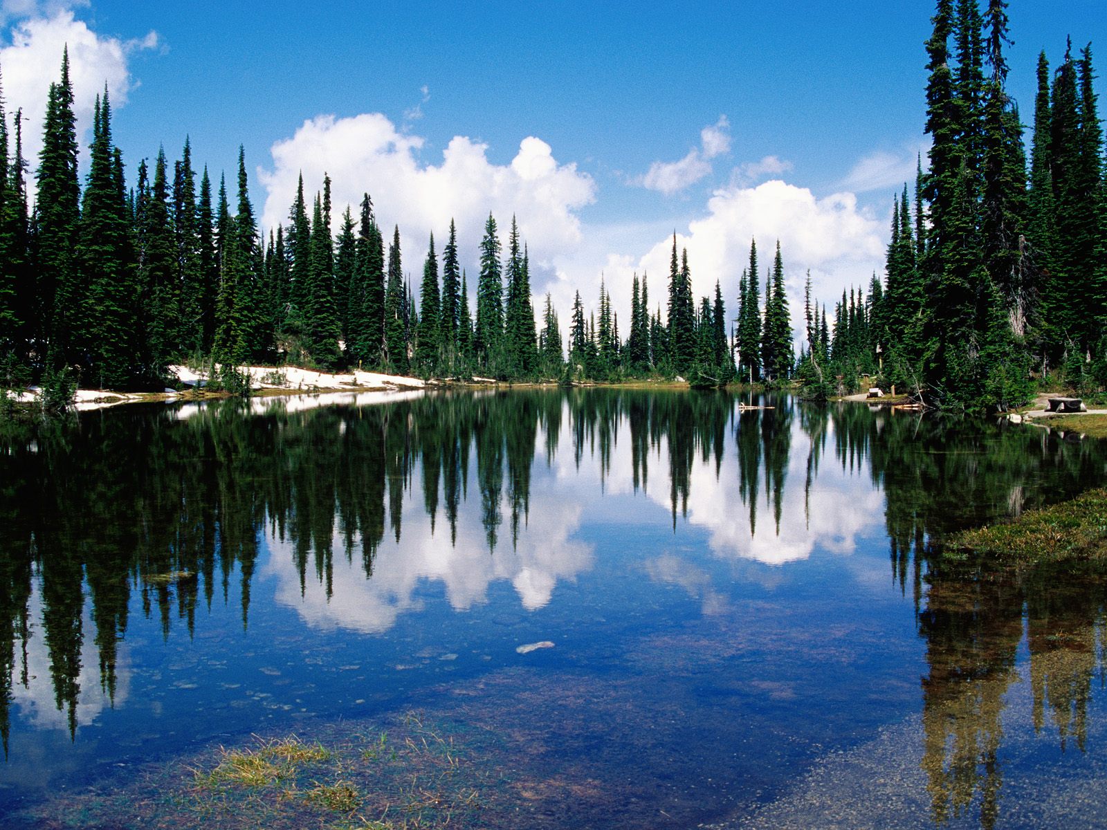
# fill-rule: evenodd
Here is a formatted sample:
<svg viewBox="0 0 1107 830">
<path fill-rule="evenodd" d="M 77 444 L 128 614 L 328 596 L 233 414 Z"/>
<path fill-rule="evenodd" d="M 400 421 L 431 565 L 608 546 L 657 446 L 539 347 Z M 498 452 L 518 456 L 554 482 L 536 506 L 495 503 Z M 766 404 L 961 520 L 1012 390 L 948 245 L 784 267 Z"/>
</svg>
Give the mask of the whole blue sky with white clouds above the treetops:
<svg viewBox="0 0 1107 830">
<path fill-rule="evenodd" d="M 718 279 L 731 300 L 756 235 L 765 256 L 782 239 L 794 305 L 807 269 L 831 300 L 881 267 L 896 183 L 925 146 L 929 0 L 0 8 L 9 111 L 33 118 L 70 41 L 79 95 L 112 90 L 128 169 L 188 134 L 198 163 L 232 175 L 244 144 L 268 225 L 301 169 L 310 189 L 328 170 L 340 203 L 368 190 L 400 224 L 414 274 L 448 217 L 472 251 L 489 210 L 517 212 L 536 293 L 562 317 L 578 288 L 594 302 L 601 271 L 617 308 L 634 271 L 660 299 L 674 230 L 697 293 Z M 1013 0 L 1010 14 L 1028 120 L 1038 51 L 1056 63 L 1067 34 L 1107 50 L 1107 13 Z"/>
</svg>

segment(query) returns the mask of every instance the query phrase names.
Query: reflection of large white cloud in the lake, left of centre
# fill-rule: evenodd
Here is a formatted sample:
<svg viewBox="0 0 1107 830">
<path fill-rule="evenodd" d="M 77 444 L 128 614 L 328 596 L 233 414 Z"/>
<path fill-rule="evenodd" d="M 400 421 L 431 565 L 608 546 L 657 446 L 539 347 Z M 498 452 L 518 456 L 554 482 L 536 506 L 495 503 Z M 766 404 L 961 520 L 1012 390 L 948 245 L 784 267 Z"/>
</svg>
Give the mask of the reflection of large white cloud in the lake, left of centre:
<svg viewBox="0 0 1107 830">
<path fill-rule="evenodd" d="M 501 533 L 499 544 L 489 553 L 477 509 L 479 495 L 472 484 L 467 509 L 458 512 L 456 544 L 451 544 L 441 511 L 432 533 L 430 517 L 418 495 L 422 483 L 418 475 L 413 475 L 405 494 L 400 542 L 387 537 L 381 543 L 371 579 L 365 578 L 356 556 L 352 563 L 345 562 L 339 537 L 332 548 L 334 575 L 330 598 L 318 582 L 309 582 L 303 596 L 300 595 L 292 544 L 276 537 L 269 539 L 272 553 L 262 574 L 278 581 L 279 602 L 297 609 L 309 624 L 322 627 L 387 631 L 400 614 L 420 608 L 416 594 L 428 581 L 444 584 L 446 599 L 455 611 L 483 604 L 493 582 L 510 581 L 524 608 L 534 611 L 550 601 L 558 580 L 571 580 L 592 564 L 590 546 L 570 539 L 580 525 L 579 501 L 557 492 L 557 484 L 549 481 L 551 487 L 544 488 L 541 494 L 535 488 L 537 495 L 530 501 L 527 526 L 520 527 L 514 549 L 509 535 Z M 509 516 L 506 500 L 501 511 L 505 518 Z"/>
</svg>

